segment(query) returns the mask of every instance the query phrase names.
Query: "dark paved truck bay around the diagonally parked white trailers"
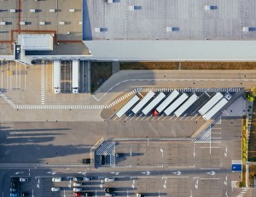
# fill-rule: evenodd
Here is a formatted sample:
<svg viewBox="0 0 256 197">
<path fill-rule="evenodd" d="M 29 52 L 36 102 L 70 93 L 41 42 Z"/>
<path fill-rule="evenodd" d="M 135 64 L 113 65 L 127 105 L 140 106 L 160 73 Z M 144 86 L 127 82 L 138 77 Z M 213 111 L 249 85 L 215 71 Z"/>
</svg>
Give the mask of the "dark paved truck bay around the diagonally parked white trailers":
<svg viewBox="0 0 256 197">
<path fill-rule="evenodd" d="M 164 112 L 160 112 L 160 114 L 154 116 L 152 114 L 152 111 L 154 109 L 157 108 L 157 106 L 159 106 L 162 101 L 157 104 L 153 110 L 151 110 L 151 113 L 149 113 L 148 115 L 144 115 L 142 110 L 147 106 L 147 104 L 150 103 L 150 101 L 152 101 L 154 98 L 151 98 L 147 104 L 145 104 L 143 106 L 142 109 L 140 109 L 137 114 L 134 114 L 131 109 L 128 110 L 125 115 L 123 115 L 122 117 L 118 117 L 117 115 L 115 115 L 115 113 L 125 105 L 125 103 L 127 103 L 129 101 L 129 99 L 131 99 L 134 95 L 139 96 L 141 99 L 150 91 L 152 90 L 155 95 L 158 95 L 159 93 L 165 93 L 166 97 L 172 93 L 172 91 L 174 89 L 172 88 L 138 88 L 136 91 L 131 91 L 131 93 L 126 93 L 125 95 L 122 95 L 119 98 L 115 98 L 115 100 L 113 100 L 113 102 L 111 102 L 110 104 L 108 104 L 109 106 L 109 112 L 107 111 L 105 114 L 110 114 L 111 112 L 114 111 L 114 114 L 110 115 L 110 117 L 108 118 L 108 120 L 110 121 L 202 121 L 203 118 L 201 117 L 201 115 L 198 113 L 198 110 L 201 108 L 201 106 L 203 106 L 204 104 L 207 103 L 207 100 L 209 100 L 209 98 L 212 98 L 212 96 L 215 93 L 222 93 L 223 95 L 225 94 L 230 94 L 231 97 L 233 97 L 236 93 L 238 93 L 239 91 L 241 91 L 241 88 L 180 88 L 178 90 L 178 92 L 180 93 L 179 95 L 181 95 L 181 93 L 187 93 L 188 96 L 192 95 L 193 93 L 195 93 L 197 95 L 197 100 L 195 101 L 194 104 L 192 104 L 191 106 L 189 106 L 189 108 L 187 110 L 185 110 L 183 112 L 183 114 L 179 117 L 177 117 L 176 115 L 174 115 L 174 113 L 172 112 L 170 115 L 165 115 Z M 112 104 L 118 104 L 119 102 L 122 102 L 122 104 L 119 104 L 119 109 L 116 109 L 116 106 L 111 106 Z M 138 103 L 138 102 L 137 102 Z M 133 105 L 134 106 L 134 105 Z M 112 108 L 112 109 L 111 109 Z M 114 110 L 113 110 L 114 108 Z"/>
</svg>

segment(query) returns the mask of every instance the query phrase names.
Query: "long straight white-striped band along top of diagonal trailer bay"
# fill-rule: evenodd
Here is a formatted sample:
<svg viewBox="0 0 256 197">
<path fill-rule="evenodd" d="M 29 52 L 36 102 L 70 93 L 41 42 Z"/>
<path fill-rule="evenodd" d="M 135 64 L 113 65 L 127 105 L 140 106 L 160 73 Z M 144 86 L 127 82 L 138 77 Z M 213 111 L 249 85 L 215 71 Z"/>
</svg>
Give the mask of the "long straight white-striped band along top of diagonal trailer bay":
<svg viewBox="0 0 256 197">
<path fill-rule="evenodd" d="M 241 91 L 240 87 L 232 87 L 232 88 L 137 88 L 137 93 L 139 92 L 149 92 L 149 91 L 153 91 L 155 92 L 172 92 L 173 90 L 177 90 L 180 93 L 183 92 L 215 92 L 215 93 L 237 93 L 239 91 Z"/>
</svg>

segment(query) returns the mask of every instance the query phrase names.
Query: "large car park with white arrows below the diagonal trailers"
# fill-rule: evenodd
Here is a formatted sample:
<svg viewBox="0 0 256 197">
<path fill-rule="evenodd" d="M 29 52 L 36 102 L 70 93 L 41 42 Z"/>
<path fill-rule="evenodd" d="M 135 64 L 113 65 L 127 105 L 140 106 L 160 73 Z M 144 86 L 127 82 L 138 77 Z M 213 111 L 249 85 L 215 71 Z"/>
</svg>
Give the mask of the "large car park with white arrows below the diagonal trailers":
<svg viewBox="0 0 256 197">
<path fill-rule="evenodd" d="M 241 121 L 219 117 L 209 130 L 197 138 L 171 141 L 125 141 L 104 142 L 97 155 L 115 155 L 111 166 L 106 157 L 104 165 L 97 169 L 88 166 L 65 168 L 17 169 L 10 177 L 29 177 L 22 191 L 34 196 L 72 196 L 73 177 L 89 177 L 79 182 L 82 192 L 93 196 L 105 195 L 105 188 L 113 188 L 116 196 L 236 196 L 240 194 L 238 183 L 241 172 L 232 172 L 232 164 L 241 161 Z M 100 162 L 97 160 L 96 162 Z M 109 167 L 111 166 L 111 167 Z M 61 177 L 53 183 L 52 177 Z M 105 178 L 114 178 L 113 182 Z M 6 183 L 9 189 L 9 183 Z M 51 188 L 60 188 L 52 192 Z"/>
</svg>

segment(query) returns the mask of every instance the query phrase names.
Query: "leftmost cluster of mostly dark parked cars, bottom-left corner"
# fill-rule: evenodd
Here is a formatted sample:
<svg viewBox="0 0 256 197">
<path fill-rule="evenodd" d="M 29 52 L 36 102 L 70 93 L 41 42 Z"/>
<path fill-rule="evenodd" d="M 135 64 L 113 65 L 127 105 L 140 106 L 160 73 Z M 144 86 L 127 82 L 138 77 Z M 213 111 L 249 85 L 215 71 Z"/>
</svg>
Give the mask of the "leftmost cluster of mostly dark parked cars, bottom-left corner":
<svg viewBox="0 0 256 197">
<path fill-rule="evenodd" d="M 20 183 L 28 182 L 28 177 L 11 177 L 10 197 L 29 196 L 28 192 L 20 192 Z"/>
</svg>

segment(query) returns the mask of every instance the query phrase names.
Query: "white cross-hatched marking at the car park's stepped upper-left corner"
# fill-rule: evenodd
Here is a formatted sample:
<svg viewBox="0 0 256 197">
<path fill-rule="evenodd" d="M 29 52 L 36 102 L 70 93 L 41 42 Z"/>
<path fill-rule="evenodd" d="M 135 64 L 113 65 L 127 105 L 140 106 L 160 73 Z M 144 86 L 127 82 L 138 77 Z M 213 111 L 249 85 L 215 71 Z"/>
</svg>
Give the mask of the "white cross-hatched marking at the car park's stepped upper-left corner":
<svg viewBox="0 0 256 197">
<path fill-rule="evenodd" d="M 115 143 L 103 142 L 102 145 L 96 149 L 96 155 L 110 155 L 110 166 L 115 166 Z"/>
</svg>

